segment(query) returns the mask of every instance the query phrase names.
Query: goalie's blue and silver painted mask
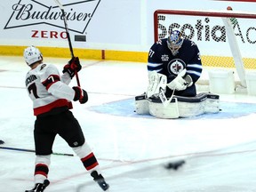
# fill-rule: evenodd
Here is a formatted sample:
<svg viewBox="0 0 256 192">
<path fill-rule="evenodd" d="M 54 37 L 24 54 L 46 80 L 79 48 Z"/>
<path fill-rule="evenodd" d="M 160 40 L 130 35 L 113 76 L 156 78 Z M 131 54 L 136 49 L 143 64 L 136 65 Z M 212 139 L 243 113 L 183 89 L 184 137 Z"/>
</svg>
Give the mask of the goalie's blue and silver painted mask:
<svg viewBox="0 0 256 192">
<path fill-rule="evenodd" d="M 170 36 L 167 38 L 167 46 L 171 50 L 172 55 L 175 56 L 178 54 L 179 49 L 183 43 L 183 38 L 179 30 L 173 30 L 170 33 Z"/>
</svg>

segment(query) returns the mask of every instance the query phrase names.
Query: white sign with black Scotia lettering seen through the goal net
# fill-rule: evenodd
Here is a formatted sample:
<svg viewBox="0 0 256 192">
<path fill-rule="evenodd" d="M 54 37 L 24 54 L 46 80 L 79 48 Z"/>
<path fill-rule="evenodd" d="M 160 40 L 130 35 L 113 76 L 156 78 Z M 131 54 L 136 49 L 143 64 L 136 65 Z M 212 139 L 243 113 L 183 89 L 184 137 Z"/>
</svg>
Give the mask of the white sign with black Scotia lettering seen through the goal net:
<svg viewBox="0 0 256 192">
<path fill-rule="evenodd" d="M 237 41 L 243 44 L 256 44 L 256 25 L 252 19 L 231 18 L 233 22 Z M 159 16 L 158 17 L 158 38 L 164 38 L 168 31 L 179 29 L 182 34 L 196 42 L 226 42 L 226 28 L 221 18 L 189 17 L 182 16 Z"/>
</svg>

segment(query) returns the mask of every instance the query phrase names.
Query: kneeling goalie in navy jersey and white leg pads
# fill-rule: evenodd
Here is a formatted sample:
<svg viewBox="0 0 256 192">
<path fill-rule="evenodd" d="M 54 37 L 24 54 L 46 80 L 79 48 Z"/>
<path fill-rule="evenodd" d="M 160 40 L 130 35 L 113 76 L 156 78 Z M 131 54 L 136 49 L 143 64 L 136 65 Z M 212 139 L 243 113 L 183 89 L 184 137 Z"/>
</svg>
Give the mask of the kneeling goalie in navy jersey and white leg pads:
<svg viewBox="0 0 256 192">
<path fill-rule="evenodd" d="M 159 118 L 218 113 L 219 95 L 196 93 L 202 73 L 197 45 L 179 30 L 153 44 L 148 52 L 148 90 L 135 97 L 137 114 Z"/>
</svg>

